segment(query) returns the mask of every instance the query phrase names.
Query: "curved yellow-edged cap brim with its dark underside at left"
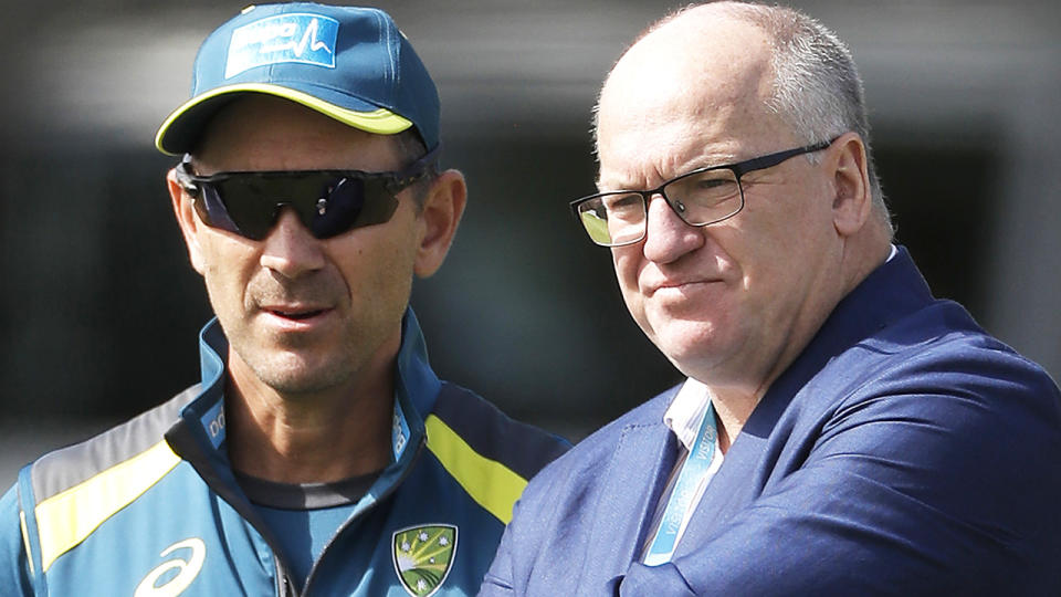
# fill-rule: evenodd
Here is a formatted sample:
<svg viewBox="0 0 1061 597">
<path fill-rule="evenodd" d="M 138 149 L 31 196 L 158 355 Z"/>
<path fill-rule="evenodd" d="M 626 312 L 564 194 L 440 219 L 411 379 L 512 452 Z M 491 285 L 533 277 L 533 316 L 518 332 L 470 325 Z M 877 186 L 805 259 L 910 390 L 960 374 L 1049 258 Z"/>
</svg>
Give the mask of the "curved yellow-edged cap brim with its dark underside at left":
<svg viewBox="0 0 1061 597">
<path fill-rule="evenodd" d="M 209 121 L 222 106 L 240 94 L 262 93 L 291 100 L 345 125 L 377 135 L 395 135 L 412 126 L 412 122 L 389 109 L 365 104 L 364 111 L 337 106 L 314 95 L 281 85 L 245 83 L 210 90 L 192 97 L 174 111 L 155 135 L 155 146 L 171 156 L 190 151 Z"/>
</svg>

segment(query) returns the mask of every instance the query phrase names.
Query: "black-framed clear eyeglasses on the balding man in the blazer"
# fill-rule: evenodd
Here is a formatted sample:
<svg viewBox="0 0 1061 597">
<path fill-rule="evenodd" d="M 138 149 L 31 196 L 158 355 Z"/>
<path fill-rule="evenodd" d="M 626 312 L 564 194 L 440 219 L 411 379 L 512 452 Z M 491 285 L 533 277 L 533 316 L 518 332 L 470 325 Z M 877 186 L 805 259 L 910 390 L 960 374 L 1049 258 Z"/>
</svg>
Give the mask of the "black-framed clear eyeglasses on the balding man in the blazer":
<svg viewBox="0 0 1061 597">
<path fill-rule="evenodd" d="M 651 190 L 598 192 L 571 201 L 571 211 L 589 238 L 601 247 L 621 247 L 641 241 L 648 230 L 648 205 L 653 195 L 662 196 L 674 213 L 689 226 L 717 223 L 744 209 L 742 176 L 777 166 L 798 155 L 820 151 L 832 145 L 833 140 L 736 164 L 697 168 Z"/>
</svg>

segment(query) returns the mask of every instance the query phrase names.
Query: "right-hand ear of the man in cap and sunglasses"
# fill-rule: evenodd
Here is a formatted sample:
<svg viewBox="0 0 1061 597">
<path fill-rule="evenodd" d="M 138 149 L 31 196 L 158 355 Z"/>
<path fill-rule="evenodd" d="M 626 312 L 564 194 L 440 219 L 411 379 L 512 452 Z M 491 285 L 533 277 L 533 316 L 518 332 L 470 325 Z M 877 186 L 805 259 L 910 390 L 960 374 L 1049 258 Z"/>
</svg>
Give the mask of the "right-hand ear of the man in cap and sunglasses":
<svg viewBox="0 0 1061 597">
<path fill-rule="evenodd" d="M 419 214 L 422 233 L 413 263 L 418 276 L 432 275 L 445 261 L 466 201 L 468 186 L 460 171 L 447 170 L 431 181 Z"/>
</svg>

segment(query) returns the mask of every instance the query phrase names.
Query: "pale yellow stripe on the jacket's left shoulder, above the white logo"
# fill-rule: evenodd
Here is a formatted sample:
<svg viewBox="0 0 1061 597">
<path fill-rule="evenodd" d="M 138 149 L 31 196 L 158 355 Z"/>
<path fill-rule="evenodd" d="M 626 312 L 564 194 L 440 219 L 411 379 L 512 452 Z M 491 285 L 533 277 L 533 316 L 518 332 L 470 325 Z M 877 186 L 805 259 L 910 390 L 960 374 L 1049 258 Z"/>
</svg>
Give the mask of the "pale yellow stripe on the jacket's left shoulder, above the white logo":
<svg viewBox="0 0 1061 597">
<path fill-rule="evenodd" d="M 165 440 L 36 505 L 41 568 L 85 541 L 180 462 Z"/>
</svg>

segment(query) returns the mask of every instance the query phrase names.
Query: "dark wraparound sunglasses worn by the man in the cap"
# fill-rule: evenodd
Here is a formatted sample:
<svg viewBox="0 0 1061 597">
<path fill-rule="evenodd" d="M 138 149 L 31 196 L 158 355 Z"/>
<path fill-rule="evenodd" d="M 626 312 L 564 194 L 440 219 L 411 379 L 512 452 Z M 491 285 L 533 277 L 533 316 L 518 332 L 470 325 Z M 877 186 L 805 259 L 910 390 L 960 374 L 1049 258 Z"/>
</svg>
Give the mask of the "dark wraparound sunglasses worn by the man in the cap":
<svg viewBox="0 0 1061 597">
<path fill-rule="evenodd" d="M 398 209 L 398 193 L 428 176 L 440 147 L 390 172 L 276 170 L 198 176 L 186 157 L 176 175 L 207 226 L 262 240 L 283 208 L 291 207 L 315 238 L 328 239 L 390 220 Z"/>
</svg>

